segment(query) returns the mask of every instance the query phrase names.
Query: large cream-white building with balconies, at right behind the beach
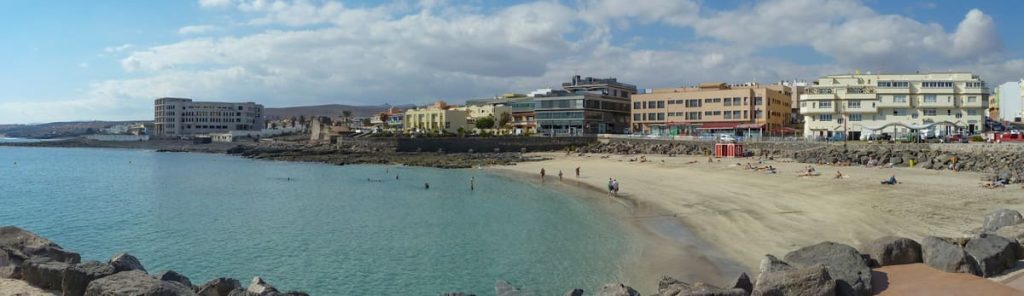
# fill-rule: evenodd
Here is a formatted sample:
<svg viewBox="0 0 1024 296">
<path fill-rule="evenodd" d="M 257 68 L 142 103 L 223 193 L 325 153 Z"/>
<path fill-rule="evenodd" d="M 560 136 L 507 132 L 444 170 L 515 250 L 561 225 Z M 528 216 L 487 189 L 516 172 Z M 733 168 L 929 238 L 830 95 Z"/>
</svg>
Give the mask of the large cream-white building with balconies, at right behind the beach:
<svg viewBox="0 0 1024 296">
<path fill-rule="evenodd" d="M 825 76 L 801 96 L 804 136 L 981 132 L 988 88 L 967 72 Z"/>
</svg>

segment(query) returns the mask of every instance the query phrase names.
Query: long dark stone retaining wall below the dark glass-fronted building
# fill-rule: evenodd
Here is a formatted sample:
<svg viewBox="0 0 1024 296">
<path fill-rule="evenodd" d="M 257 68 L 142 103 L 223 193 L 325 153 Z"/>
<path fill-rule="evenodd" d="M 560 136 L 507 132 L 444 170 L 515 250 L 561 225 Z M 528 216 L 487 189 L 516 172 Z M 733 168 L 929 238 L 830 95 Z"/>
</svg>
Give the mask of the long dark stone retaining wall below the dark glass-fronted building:
<svg viewBox="0 0 1024 296">
<path fill-rule="evenodd" d="M 553 152 L 594 143 L 596 137 L 421 137 L 398 138 L 397 152 Z"/>
</svg>

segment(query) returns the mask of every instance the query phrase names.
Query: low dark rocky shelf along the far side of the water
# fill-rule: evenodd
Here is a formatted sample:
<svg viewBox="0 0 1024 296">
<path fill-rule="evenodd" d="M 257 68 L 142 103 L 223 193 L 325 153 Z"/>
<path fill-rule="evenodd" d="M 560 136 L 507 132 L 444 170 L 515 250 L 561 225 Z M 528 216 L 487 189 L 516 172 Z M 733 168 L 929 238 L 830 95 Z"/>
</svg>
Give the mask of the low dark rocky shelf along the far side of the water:
<svg viewBox="0 0 1024 296">
<path fill-rule="evenodd" d="M 402 164 L 434 168 L 472 168 L 478 166 L 512 165 L 528 161 L 520 153 L 485 152 L 446 154 L 439 152 L 396 153 L 380 145 L 261 143 L 237 145 L 229 155 L 251 159 L 318 162 L 334 165 Z"/>
</svg>

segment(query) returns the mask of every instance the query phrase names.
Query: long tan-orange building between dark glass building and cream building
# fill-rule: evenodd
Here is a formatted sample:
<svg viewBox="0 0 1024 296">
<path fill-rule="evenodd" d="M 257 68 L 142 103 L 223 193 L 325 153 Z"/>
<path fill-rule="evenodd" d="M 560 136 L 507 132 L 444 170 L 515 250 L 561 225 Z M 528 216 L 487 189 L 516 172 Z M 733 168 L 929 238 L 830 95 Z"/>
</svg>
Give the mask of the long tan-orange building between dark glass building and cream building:
<svg viewBox="0 0 1024 296">
<path fill-rule="evenodd" d="M 632 128 L 654 135 L 783 134 L 791 121 L 785 85 L 701 83 L 633 95 Z"/>
</svg>

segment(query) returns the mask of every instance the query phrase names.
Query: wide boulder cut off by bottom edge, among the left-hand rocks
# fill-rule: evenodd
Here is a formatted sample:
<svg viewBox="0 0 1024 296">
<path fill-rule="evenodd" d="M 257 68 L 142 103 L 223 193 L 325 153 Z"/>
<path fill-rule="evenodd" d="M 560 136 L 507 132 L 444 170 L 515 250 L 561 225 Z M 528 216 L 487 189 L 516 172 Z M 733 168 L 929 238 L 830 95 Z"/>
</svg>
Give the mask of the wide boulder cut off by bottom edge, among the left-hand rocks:
<svg viewBox="0 0 1024 296">
<path fill-rule="evenodd" d="M 153 279 L 142 270 L 128 270 L 92 281 L 86 296 L 191 296 L 191 289 L 176 282 Z"/>
</svg>

